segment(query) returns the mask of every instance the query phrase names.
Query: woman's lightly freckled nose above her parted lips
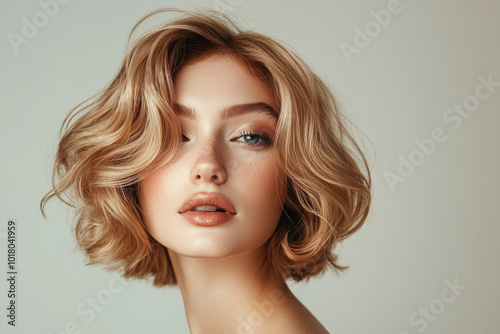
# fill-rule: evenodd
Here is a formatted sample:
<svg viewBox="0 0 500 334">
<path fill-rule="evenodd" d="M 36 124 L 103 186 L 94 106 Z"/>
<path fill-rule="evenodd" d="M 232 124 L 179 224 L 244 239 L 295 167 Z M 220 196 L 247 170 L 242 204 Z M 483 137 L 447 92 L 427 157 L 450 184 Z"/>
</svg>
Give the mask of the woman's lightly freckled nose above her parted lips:
<svg viewBox="0 0 500 334">
<path fill-rule="evenodd" d="M 226 182 L 227 172 L 223 164 L 222 150 L 216 143 L 206 144 L 200 148 L 191 171 L 193 182 L 222 184 Z"/>
</svg>

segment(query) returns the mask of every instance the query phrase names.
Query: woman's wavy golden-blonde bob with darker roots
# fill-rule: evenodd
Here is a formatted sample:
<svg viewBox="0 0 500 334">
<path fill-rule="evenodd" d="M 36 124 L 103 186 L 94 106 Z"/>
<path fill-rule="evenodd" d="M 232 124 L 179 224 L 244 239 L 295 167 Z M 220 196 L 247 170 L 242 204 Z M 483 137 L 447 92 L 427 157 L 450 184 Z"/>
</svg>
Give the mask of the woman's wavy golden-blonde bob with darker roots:
<svg viewBox="0 0 500 334">
<path fill-rule="evenodd" d="M 159 13 L 180 13 L 138 38 L 134 31 Z M 367 218 L 371 177 L 326 84 L 276 40 L 244 31 L 214 10 L 163 8 L 141 18 L 112 82 L 66 116 L 40 209 L 57 196 L 76 209 L 77 246 L 87 264 L 124 277 L 177 283 L 165 246 L 147 231 L 138 187 L 168 163 L 181 142 L 173 111 L 179 69 L 210 55 L 231 55 L 268 88 L 279 107 L 273 150 L 286 175 L 283 212 L 266 242 L 267 261 L 295 281 L 342 271 L 333 253 Z M 78 116 L 78 117 L 77 117 Z M 65 195 L 66 199 L 63 198 Z"/>
</svg>

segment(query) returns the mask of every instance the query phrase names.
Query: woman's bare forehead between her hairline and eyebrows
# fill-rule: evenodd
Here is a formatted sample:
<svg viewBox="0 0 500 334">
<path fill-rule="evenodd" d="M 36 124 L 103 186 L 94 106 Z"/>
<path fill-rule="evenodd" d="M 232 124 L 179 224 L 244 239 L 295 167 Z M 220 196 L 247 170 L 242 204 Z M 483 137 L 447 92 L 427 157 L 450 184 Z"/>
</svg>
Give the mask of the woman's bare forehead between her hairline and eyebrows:
<svg viewBox="0 0 500 334">
<path fill-rule="evenodd" d="M 230 55 L 211 55 L 181 67 L 174 77 L 174 102 L 179 105 L 223 106 L 262 102 L 276 110 L 263 82 Z"/>
</svg>

